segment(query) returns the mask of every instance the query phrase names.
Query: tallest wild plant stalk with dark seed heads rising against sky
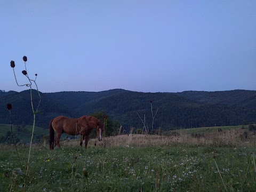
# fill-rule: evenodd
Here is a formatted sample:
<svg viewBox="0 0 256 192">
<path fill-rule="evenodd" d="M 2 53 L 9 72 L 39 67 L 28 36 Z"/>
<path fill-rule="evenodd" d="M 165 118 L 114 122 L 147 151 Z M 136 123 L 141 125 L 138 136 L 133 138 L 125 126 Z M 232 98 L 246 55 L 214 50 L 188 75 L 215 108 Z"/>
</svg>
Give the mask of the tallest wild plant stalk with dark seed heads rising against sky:
<svg viewBox="0 0 256 192">
<path fill-rule="evenodd" d="M 25 75 L 27 78 L 28 78 L 28 81 L 29 83 L 28 84 L 23 84 L 23 85 L 19 85 L 18 81 L 17 81 L 17 77 L 15 75 L 15 71 L 14 71 L 14 67 L 15 67 L 15 63 L 14 61 L 11 61 L 11 67 L 13 68 L 13 74 L 14 74 L 14 77 L 15 77 L 15 81 L 17 83 L 18 86 L 28 86 L 29 89 L 30 89 L 30 102 L 31 102 L 31 108 L 33 110 L 33 129 L 32 129 L 32 134 L 31 134 L 31 140 L 30 140 L 30 147 L 29 147 L 29 154 L 28 154 L 28 162 L 27 162 L 27 169 L 26 169 L 26 175 L 28 175 L 28 170 L 29 170 L 29 160 L 30 160 L 30 154 L 31 154 L 31 146 L 32 146 L 32 141 L 33 141 L 33 136 L 34 136 L 34 130 L 35 130 L 35 121 L 36 121 L 36 114 L 38 113 L 38 108 L 39 108 L 39 105 L 41 103 L 41 95 L 38 91 L 38 87 L 37 87 L 37 84 L 36 84 L 36 78 L 37 78 L 37 74 L 35 74 L 35 79 L 30 79 L 29 76 L 28 76 L 28 73 L 27 73 L 27 66 L 26 66 L 26 62 L 27 62 L 27 57 L 24 56 L 23 57 L 23 61 L 25 63 L 25 69 L 26 70 L 23 70 L 22 71 L 22 74 Z M 34 109 L 34 104 L 33 104 L 33 94 L 32 94 L 32 82 L 34 82 L 35 86 L 36 86 L 36 90 L 37 90 L 37 93 L 38 93 L 38 96 L 39 96 L 39 102 L 38 102 L 38 105 L 37 105 L 37 108 L 36 110 Z M 26 189 L 25 189 L 26 190 Z"/>
</svg>

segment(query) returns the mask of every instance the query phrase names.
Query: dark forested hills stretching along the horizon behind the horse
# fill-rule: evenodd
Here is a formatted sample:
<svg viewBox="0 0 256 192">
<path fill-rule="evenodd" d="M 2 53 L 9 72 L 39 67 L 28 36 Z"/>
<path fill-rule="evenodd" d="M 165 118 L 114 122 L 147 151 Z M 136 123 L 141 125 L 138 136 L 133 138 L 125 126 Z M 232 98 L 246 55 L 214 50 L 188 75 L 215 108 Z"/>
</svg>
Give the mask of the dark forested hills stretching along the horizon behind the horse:
<svg viewBox="0 0 256 192">
<path fill-rule="evenodd" d="M 36 106 L 39 99 L 34 90 L 33 95 Z M 138 114 L 142 119 L 145 116 L 146 124 L 151 127 L 150 101 L 153 115 L 158 108 L 154 127 L 161 126 L 163 129 L 256 122 L 256 91 L 143 93 L 115 89 L 101 92 L 41 93 L 41 112 L 36 117 L 36 124 L 46 128 L 50 119 L 58 115 L 79 117 L 105 111 L 111 119 L 119 121 L 126 129 L 143 126 Z M 0 91 L 0 123 L 9 123 L 7 103 L 12 103 L 13 106 L 13 124 L 32 124 L 29 90 Z"/>
</svg>

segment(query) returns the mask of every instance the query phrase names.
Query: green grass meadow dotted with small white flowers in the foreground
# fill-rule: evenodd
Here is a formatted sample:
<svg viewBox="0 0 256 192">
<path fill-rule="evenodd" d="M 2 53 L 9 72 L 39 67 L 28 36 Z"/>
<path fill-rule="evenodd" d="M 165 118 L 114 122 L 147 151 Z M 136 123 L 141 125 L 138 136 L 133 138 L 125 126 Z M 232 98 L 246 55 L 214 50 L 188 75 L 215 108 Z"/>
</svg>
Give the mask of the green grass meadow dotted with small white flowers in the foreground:
<svg viewBox="0 0 256 192">
<path fill-rule="evenodd" d="M 28 148 L 19 147 L 22 171 Z M 33 147 L 27 191 L 254 191 L 255 148 Z M 218 172 L 217 166 L 220 170 Z M 0 191 L 23 191 L 10 146 L 1 146 Z M 83 172 L 83 169 L 84 172 Z M 7 171 L 6 171 L 7 170 Z M 9 174 L 9 177 L 5 175 Z M 5 174 L 4 174 L 5 173 Z M 84 176 L 87 174 L 87 177 Z M 221 180 L 221 177 L 223 182 Z M 225 186 L 224 186 L 225 184 Z"/>
</svg>

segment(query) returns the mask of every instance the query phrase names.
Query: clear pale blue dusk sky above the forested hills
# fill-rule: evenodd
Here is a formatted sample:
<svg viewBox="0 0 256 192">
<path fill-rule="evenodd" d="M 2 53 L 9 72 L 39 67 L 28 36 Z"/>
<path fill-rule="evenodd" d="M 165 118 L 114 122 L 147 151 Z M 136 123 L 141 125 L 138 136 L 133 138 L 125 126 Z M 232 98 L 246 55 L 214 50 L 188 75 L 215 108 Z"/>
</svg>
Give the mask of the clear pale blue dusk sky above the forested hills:
<svg viewBox="0 0 256 192">
<path fill-rule="evenodd" d="M 0 90 L 256 90 L 256 1 L 1 1 Z M 35 87 L 33 87 L 35 88 Z"/>
</svg>

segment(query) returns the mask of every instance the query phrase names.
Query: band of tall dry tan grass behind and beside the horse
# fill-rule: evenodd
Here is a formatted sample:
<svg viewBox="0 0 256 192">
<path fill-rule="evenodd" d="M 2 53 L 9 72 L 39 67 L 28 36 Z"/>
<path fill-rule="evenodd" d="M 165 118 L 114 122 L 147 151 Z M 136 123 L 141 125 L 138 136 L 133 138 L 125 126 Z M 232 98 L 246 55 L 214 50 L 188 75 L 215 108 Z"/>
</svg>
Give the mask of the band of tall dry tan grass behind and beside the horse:
<svg viewBox="0 0 256 192">
<path fill-rule="evenodd" d="M 217 147 L 256 147 L 256 133 L 250 132 L 248 129 L 234 129 L 222 132 L 202 133 L 193 136 L 192 134 L 179 133 L 178 131 L 172 135 L 125 134 L 106 137 L 100 142 L 97 139 L 90 139 L 88 142 L 89 147 L 172 146 L 176 144 Z M 63 141 L 62 145 L 79 145 L 79 141 Z"/>
</svg>

